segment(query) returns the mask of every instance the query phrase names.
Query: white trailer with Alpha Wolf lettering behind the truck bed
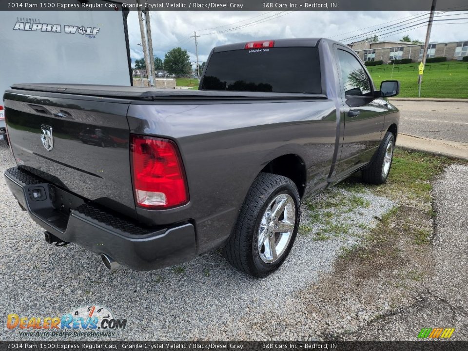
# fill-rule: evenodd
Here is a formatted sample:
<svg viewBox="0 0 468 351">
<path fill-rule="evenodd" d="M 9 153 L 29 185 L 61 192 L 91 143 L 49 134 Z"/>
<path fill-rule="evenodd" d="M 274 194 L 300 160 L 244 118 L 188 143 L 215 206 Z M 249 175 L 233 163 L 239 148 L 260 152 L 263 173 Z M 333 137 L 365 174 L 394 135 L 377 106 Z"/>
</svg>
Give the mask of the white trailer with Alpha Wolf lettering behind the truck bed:
<svg viewBox="0 0 468 351">
<path fill-rule="evenodd" d="M 0 97 L 14 83 L 132 85 L 128 11 L 117 8 L 0 11 Z"/>
</svg>

